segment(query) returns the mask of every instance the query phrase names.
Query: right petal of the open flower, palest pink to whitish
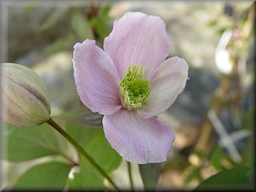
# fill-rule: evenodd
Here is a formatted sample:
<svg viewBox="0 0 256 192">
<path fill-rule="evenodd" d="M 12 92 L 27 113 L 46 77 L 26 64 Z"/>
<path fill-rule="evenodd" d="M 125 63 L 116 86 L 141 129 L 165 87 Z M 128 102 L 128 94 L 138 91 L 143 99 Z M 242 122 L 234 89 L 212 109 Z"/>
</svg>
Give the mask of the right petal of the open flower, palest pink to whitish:
<svg viewBox="0 0 256 192">
<path fill-rule="evenodd" d="M 150 80 L 151 90 L 147 102 L 137 112 L 148 118 L 170 108 L 185 87 L 188 70 L 187 62 L 177 56 L 164 61 Z"/>
</svg>

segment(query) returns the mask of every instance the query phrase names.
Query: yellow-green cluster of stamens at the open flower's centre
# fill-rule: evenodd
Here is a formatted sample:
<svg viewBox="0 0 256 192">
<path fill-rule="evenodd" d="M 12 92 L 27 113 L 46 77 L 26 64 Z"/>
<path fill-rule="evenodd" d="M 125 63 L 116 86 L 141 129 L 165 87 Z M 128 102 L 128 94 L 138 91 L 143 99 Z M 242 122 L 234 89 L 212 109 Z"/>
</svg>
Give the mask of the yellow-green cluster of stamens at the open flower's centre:
<svg viewBox="0 0 256 192">
<path fill-rule="evenodd" d="M 129 66 L 124 78 L 119 82 L 119 96 L 123 107 L 129 110 L 141 108 L 149 94 L 150 86 L 144 67 L 138 71 L 137 65 Z"/>
</svg>

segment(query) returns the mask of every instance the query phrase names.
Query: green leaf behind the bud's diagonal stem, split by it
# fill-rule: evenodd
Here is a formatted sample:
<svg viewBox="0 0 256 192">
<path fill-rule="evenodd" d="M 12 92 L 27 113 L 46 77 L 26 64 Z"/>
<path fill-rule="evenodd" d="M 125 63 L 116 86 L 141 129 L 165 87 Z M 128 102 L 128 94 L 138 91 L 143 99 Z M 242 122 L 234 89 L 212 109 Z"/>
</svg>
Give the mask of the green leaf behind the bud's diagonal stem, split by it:
<svg viewBox="0 0 256 192">
<path fill-rule="evenodd" d="M 102 130 L 99 135 L 90 138 L 89 143 L 84 144 L 85 151 L 102 166 L 105 172 L 110 173 L 119 166 L 121 157 L 111 148 Z M 88 160 L 81 158 L 80 172 L 74 174 L 68 186 L 69 189 L 102 189 L 103 177 Z"/>
</svg>

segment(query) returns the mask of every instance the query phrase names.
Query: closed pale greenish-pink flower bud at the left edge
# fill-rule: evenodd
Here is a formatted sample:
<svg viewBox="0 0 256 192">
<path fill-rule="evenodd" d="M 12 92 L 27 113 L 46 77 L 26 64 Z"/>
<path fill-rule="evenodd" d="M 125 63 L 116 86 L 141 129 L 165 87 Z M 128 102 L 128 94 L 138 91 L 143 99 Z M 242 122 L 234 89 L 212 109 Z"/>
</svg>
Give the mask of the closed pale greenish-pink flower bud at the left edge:
<svg viewBox="0 0 256 192">
<path fill-rule="evenodd" d="M 10 125 L 32 127 L 49 119 L 50 106 L 43 81 L 30 68 L 2 63 L 2 117 Z"/>
</svg>

